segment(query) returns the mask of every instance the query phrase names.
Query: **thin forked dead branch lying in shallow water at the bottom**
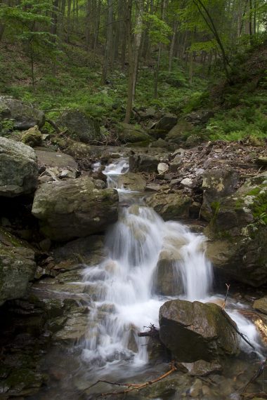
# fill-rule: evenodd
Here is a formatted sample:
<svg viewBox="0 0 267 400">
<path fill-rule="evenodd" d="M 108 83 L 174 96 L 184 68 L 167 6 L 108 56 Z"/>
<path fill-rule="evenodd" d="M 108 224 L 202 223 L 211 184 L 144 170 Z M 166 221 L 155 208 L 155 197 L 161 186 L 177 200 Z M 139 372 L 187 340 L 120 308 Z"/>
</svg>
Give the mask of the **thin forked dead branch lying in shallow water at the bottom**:
<svg viewBox="0 0 267 400">
<path fill-rule="evenodd" d="M 97 382 L 93 383 L 93 385 L 86 387 L 83 392 L 86 392 L 86 390 L 91 389 L 91 387 L 96 386 L 100 382 L 108 383 L 109 385 L 118 385 L 118 386 L 125 386 L 127 389 L 124 389 L 119 392 L 107 392 L 107 393 L 101 393 L 98 394 L 96 397 L 103 397 L 103 396 L 118 396 L 119 394 L 126 394 L 129 392 L 132 392 L 133 390 L 141 390 L 144 389 L 147 386 L 153 385 L 154 383 L 159 382 L 159 380 L 162 380 L 164 378 L 167 378 L 167 376 L 171 375 L 174 371 L 177 370 L 174 361 L 171 362 L 171 369 L 167 371 L 167 373 L 164 373 L 163 375 L 160 375 L 158 378 L 154 380 L 149 380 L 148 382 L 144 383 L 119 383 L 119 382 L 109 382 L 107 380 L 98 380 Z"/>
</svg>

